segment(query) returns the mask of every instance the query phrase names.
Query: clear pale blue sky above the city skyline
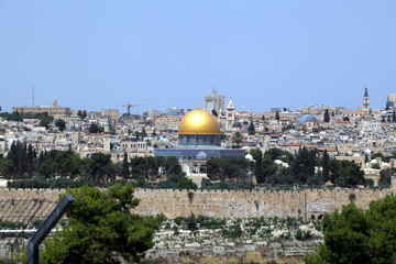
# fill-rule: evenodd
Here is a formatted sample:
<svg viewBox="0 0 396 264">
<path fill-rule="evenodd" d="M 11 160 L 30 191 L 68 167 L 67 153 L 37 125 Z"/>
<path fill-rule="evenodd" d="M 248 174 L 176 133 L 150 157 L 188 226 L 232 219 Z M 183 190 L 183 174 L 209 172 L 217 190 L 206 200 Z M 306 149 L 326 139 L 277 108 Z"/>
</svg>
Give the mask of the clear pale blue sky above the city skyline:
<svg viewBox="0 0 396 264">
<path fill-rule="evenodd" d="M 392 0 L 0 0 L 0 106 L 382 108 L 395 28 Z"/>
</svg>

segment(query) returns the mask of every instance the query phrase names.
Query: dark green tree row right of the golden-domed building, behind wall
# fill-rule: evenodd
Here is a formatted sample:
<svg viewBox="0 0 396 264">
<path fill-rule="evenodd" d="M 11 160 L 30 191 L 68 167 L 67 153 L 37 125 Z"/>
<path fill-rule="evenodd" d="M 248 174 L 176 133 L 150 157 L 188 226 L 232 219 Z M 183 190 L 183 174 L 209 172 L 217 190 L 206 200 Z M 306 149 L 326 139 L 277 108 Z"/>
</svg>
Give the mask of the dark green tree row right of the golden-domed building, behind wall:
<svg viewBox="0 0 396 264">
<path fill-rule="evenodd" d="M 327 151 L 302 147 L 295 155 L 276 147 L 264 154 L 260 148 L 251 150 L 254 162 L 244 160 L 210 160 L 207 163 L 211 179 L 237 183 L 251 182 L 254 175 L 257 184 L 271 185 L 310 185 L 321 186 L 330 182 L 340 187 L 358 185 L 372 186 L 371 179 L 364 178 L 359 164 L 351 161 L 330 158 Z M 381 172 L 381 187 L 388 187 L 393 169 Z"/>
</svg>

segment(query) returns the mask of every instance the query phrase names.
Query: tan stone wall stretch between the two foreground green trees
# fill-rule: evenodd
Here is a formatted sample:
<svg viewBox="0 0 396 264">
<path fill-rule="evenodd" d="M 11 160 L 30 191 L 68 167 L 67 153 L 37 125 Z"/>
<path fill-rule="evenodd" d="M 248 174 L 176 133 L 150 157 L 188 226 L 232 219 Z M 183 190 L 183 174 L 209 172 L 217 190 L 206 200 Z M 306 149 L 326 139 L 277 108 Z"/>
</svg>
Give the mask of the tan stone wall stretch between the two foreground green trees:
<svg viewBox="0 0 396 264">
<path fill-rule="evenodd" d="M 324 212 L 341 209 L 351 200 L 362 208 L 370 201 L 392 195 L 391 189 L 312 189 L 283 190 L 147 190 L 135 196 L 141 199 L 138 211 L 143 215 L 163 212 L 168 218 L 204 215 L 215 218 L 253 217 L 319 217 Z"/>
</svg>

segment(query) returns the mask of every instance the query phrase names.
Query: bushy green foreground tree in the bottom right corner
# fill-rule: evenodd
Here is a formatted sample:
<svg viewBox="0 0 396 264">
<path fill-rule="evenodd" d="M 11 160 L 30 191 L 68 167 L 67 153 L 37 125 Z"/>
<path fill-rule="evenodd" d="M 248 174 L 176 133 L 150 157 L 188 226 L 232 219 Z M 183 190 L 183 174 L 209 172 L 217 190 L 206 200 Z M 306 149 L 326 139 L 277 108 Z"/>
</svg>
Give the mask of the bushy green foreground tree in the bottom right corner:
<svg viewBox="0 0 396 264">
<path fill-rule="evenodd" d="M 396 197 L 370 204 L 362 210 L 350 204 L 324 215 L 324 243 L 304 256 L 307 264 L 396 263 Z"/>
</svg>

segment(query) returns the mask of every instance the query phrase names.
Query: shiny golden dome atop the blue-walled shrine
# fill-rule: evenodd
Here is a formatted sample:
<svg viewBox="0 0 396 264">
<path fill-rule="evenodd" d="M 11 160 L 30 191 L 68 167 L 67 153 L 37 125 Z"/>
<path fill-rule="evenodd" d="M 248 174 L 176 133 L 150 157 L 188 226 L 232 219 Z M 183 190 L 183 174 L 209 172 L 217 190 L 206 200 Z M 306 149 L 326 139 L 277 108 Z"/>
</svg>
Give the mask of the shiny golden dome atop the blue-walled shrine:
<svg viewBox="0 0 396 264">
<path fill-rule="evenodd" d="M 220 134 L 220 128 L 213 116 L 198 108 L 182 119 L 179 134 Z"/>
</svg>

